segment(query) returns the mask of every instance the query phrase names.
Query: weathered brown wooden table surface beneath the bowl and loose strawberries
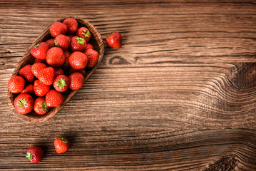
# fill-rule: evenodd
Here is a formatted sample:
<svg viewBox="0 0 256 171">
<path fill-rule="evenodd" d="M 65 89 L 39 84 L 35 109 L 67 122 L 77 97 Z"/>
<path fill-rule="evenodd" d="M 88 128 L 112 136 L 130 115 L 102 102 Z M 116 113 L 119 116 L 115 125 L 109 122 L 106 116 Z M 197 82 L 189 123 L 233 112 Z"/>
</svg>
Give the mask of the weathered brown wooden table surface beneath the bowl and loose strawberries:
<svg viewBox="0 0 256 171">
<path fill-rule="evenodd" d="M 0 1 L 0 170 L 256 170 L 255 1 Z M 90 21 L 101 66 L 53 118 L 6 102 L 16 63 L 53 21 Z M 53 141 L 71 141 L 58 155 Z M 39 164 L 26 159 L 42 147 Z"/>
</svg>

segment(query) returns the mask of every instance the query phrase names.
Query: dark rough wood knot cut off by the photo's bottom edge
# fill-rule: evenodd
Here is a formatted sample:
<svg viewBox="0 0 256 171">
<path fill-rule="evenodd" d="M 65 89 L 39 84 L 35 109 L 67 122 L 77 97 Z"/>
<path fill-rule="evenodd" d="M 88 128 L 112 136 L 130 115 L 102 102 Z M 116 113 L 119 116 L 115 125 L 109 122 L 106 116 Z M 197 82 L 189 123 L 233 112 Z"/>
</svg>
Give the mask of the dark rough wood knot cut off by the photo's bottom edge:
<svg viewBox="0 0 256 171">
<path fill-rule="evenodd" d="M 236 162 L 234 157 L 222 157 L 203 171 L 232 171 L 235 169 Z"/>
</svg>

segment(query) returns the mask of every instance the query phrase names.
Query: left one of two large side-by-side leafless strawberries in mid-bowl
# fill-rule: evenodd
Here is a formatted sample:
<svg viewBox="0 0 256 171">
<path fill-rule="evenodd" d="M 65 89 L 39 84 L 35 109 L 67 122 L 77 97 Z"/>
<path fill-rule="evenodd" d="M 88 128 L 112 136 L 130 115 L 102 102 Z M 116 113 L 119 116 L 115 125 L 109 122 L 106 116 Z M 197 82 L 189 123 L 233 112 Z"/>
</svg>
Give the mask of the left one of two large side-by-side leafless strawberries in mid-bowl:
<svg viewBox="0 0 256 171">
<path fill-rule="evenodd" d="M 61 66 L 65 62 L 65 56 L 61 48 L 53 47 L 47 52 L 46 62 L 51 66 Z"/>
</svg>

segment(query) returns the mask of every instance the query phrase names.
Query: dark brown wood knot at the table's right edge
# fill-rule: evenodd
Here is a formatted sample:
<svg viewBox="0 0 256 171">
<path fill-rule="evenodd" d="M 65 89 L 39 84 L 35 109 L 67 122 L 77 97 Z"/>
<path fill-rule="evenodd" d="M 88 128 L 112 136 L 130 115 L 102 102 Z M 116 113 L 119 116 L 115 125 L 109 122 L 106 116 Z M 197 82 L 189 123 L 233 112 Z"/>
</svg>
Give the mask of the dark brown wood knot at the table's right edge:
<svg viewBox="0 0 256 171">
<path fill-rule="evenodd" d="M 238 63 L 227 78 L 238 89 L 255 87 L 256 63 Z"/>
</svg>

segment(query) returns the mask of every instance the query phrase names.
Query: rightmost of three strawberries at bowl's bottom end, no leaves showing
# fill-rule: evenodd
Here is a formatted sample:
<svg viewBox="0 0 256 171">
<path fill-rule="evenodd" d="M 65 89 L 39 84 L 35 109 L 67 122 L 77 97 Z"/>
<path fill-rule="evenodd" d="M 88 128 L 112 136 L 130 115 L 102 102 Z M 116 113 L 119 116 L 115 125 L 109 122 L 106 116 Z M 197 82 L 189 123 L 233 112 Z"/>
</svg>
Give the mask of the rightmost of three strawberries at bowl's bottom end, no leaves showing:
<svg viewBox="0 0 256 171">
<path fill-rule="evenodd" d="M 46 94 L 46 105 L 48 105 L 48 107 L 59 107 L 63 102 L 63 95 L 56 90 L 50 90 Z"/>
</svg>

